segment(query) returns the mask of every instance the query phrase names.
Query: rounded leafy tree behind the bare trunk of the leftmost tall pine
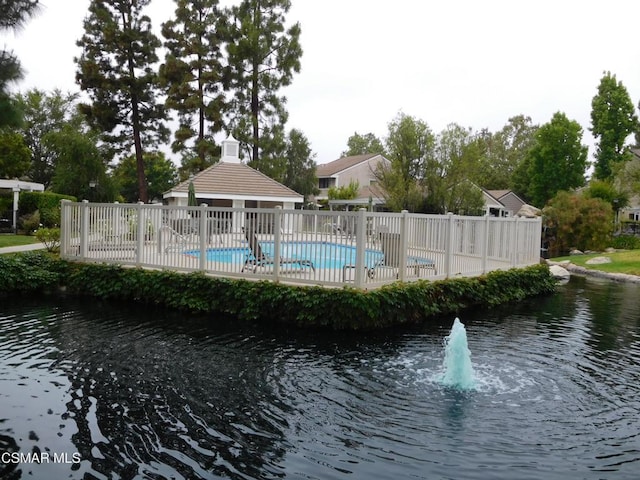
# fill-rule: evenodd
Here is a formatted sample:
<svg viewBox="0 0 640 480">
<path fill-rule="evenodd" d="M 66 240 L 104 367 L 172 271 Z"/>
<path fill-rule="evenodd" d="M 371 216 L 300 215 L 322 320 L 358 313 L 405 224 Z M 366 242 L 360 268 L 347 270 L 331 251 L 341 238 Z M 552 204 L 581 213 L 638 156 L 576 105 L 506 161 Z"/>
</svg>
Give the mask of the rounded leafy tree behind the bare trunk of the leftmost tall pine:
<svg viewBox="0 0 640 480">
<path fill-rule="evenodd" d="M 178 182 L 176 167 L 162 152 L 144 154 L 145 176 L 149 182 L 149 198 L 162 199 L 162 194 Z M 136 178 L 136 159 L 134 156 L 123 158 L 114 169 L 113 175 L 120 194 L 127 202 L 139 198 Z"/>
</svg>

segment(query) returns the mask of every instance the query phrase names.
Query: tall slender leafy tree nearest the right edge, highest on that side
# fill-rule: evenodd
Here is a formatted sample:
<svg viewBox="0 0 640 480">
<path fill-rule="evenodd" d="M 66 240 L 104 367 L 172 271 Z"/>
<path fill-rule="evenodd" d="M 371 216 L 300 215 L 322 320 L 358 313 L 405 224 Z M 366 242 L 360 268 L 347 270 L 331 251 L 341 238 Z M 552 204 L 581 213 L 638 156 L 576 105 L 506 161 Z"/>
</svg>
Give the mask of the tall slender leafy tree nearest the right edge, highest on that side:
<svg viewBox="0 0 640 480">
<path fill-rule="evenodd" d="M 613 168 L 629 160 L 627 138 L 640 128 L 627 89 L 606 72 L 591 101 L 591 132 L 597 139 L 594 176 L 610 179 Z"/>
</svg>

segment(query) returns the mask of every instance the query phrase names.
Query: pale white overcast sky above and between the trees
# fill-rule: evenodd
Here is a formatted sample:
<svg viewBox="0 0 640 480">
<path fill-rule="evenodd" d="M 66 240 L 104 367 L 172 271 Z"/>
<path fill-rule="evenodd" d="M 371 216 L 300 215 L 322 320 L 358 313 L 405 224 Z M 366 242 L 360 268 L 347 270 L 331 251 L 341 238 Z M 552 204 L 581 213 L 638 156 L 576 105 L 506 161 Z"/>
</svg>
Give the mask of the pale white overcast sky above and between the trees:
<svg viewBox="0 0 640 480">
<path fill-rule="evenodd" d="M 89 0 L 41 0 L 16 34 L 0 36 L 26 70 L 14 90 L 77 91 L 73 57 Z M 225 2 L 228 3 L 228 2 Z M 292 0 L 302 27 L 302 71 L 283 93 L 287 129 L 302 130 L 318 163 L 354 132 L 384 139 L 404 112 L 438 133 L 455 122 L 501 129 L 512 116 L 548 122 L 564 112 L 589 133 L 603 72 L 640 100 L 638 0 Z M 153 0 L 154 26 L 172 0 Z"/>
</svg>

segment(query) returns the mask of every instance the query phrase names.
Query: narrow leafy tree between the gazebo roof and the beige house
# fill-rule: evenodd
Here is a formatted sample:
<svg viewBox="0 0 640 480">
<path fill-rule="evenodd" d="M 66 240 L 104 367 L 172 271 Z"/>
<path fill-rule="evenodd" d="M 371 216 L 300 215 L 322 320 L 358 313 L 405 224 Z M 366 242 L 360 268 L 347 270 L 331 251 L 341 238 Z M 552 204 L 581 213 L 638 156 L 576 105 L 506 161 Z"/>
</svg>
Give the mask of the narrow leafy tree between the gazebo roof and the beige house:
<svg viewBox="0 0 640 480">
<path fill-rule="evenodd" d="M 314 158 L 307 137 L 300 130 L 292 129 L 287 137 L 287 163 L 282 183 L 304 195 L 305 201 L 310 195 L 319 193 Z"/>
</svg>

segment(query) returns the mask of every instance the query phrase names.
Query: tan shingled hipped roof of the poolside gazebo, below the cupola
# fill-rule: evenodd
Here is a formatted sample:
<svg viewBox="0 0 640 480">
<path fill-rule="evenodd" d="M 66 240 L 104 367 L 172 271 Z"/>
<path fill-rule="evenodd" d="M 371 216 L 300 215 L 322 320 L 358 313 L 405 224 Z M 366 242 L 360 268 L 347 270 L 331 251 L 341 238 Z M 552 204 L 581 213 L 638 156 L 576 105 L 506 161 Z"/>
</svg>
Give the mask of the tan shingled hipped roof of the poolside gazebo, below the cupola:
<svg viewBox="0 0 640 480">
<path fill-rule="evenodd" d="M 219 162 L 165 192 L 164 197 L 186 197 L 193 181 L 198 198 L 281 198 L 302 202 L 299 193 L 243 163 Z"/>
</svg>

